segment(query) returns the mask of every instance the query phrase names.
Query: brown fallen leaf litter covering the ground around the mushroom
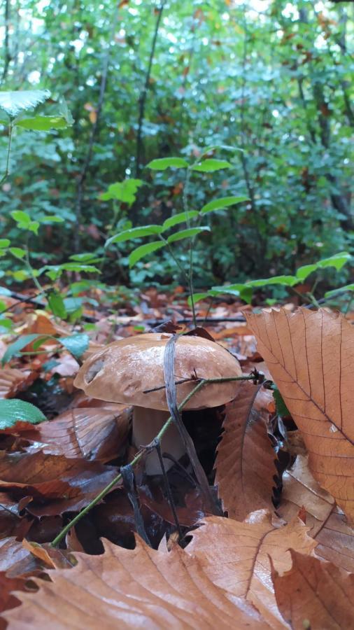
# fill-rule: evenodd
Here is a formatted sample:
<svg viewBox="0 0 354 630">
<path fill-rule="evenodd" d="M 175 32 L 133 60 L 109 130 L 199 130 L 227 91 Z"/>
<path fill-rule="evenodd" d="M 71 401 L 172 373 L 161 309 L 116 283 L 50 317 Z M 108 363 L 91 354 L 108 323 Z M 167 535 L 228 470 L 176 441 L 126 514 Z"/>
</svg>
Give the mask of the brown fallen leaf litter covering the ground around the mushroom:
<svg viewBox="0 0 354 630">
<path fill-rule="evenodd" d="M 83 358 L 113 339 L 150 330 L 165 309 L 175 321 L 188 313 L 178 293 L 146 292 L 143 299 L 142 309 L 106 317 L 90 333 Z M 353 328 L 341 316 L 306 309 L 253 315 L 248 308 L 247 325 L 220 323 L 231 308 L 225 303 L 207 314 L 217 322 L 208 323 L 209 335 L 238 356 L 244 373 L 264 367 L 291 416 L 278 416 L 271 392 L 249 382 L 237 386 L 234 400 L 213 419 L 207 412 L 196 412 L 194 421 L 186 416 L 225 516 L 208 514 L 182 458 L 168 472 L 183 531 L 179 545 L 162 478 L 146 477 L 138 465 L 136 496 L 153 547 L 134 538 L 134 510 L 122 486 L 85 514 L 65 544 L 51 547 L 62 526 L 134 456 L 131 412 L 75 393 L 77 359 L 58 352 L 57 344 L 41 346 L 37 355 L 19 353 L 0 370 L 3 398 L 44 410 L 45 393 L 54 397 L 52 419 L 0 432 L 1 628 L 349 626 Z M 17 324 L 17 334 L 72 332 L 43 311 L 25 321 L 17 316 Z M 7 335 L 6 345 L 13 340 Z M 295 434 L 302 450 L 294 447 Z"/>
</svg>

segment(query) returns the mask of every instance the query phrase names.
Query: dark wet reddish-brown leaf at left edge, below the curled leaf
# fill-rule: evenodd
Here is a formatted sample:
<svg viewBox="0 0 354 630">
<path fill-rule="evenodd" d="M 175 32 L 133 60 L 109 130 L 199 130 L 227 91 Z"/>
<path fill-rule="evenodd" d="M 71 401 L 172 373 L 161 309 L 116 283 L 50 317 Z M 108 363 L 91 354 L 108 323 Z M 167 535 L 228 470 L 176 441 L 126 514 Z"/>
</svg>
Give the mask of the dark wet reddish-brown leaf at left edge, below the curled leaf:
<svg viewBox="0 0 354 630">
<path fill-rule="evenodd" d="M 116 475 L 113 466 L 42 451 L 0 456 L 0 491 L 15 498 L 32 496 L 26 509 L 39 517 L 82 509 Z"/>
</svg>

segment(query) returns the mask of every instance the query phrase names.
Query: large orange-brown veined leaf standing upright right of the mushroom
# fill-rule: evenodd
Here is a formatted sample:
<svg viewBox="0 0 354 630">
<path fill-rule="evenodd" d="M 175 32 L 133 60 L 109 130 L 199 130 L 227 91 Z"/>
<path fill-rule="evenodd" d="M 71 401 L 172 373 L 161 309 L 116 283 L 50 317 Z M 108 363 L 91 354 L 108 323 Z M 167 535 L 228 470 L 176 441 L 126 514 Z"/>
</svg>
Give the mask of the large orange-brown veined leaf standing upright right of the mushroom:
<svg viewBox="0 0 354 630">
<path fill-rule="evenodd" d="M 248 315 L 318 483 L 354 521 L 354 329 L 324 309 Z"/>
</svg>

